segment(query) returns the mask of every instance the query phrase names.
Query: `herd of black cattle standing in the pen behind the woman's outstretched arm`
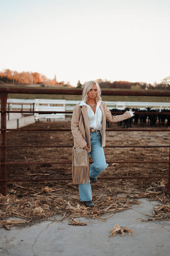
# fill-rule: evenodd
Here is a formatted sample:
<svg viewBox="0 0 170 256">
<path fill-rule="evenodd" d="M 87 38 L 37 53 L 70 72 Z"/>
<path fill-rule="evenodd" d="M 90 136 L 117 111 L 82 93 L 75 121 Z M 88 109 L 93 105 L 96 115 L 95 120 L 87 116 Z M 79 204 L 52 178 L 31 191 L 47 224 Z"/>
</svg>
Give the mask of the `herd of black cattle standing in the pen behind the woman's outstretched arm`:
<svg viewBox="0 0 170 256">
<path fill-rule="evenodd" d="M 159 110 L 146 108 L 145 110 L 140 110 L 134 108 L 127 108 L 125 110 L 112 109 L 111 112 L 113 112 L 112 115 L 119 115 L 120 113 L 117 112 L 125 112 L 127 110 L 135 111 L 135 115 L 132 118 L 126 119 L 123 122 L 118 123 L 119 126 L 121 126 L 123 123 L 124 128 L 129 128 L 131 127 L 132 124 L 140 126 L 145 126 L 146 124 L 149 124 L 151 127 L 156 127 L 156 125 L 165 124 L 167 127 L 170 126 L 170 109 Z M 108 123 L 107 125 L 109 127 Z"/>
</svg>

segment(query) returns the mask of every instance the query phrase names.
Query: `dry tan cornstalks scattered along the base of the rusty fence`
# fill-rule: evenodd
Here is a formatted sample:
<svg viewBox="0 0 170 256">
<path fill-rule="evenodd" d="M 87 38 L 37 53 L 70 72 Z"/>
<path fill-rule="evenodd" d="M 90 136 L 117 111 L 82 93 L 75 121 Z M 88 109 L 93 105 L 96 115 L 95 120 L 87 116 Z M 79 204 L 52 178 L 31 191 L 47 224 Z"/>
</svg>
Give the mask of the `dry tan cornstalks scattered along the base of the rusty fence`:
<svg viewBox="0 0 170 256">
<path fill-rule="evenodd" d="M 147 191 L 135 196 L 124 197 L 93 197 L 95 203 L 94 208 L 87 208 L 83 203 L 80 203 L 79 198 L 75 196 L 63 196 L 57 194 L 60 189 L 52 190 L 49 187 L 43 188 L 39 193 L 33 191 L 32 194 L 24 195 L 24 198 L 18 198 L 15 192 L 12 195 L 6 197 L 0 194 L 0 220 L 3 221 L 11 216 L 17 216 L 22 218 L 38 218 L 46 219 L 52 216 L 61 215 L 62 220 L 69 220 L 77 217 L 86 217 L 92 219 L 99 219 L 103 214 L 114 214 L 116 212 L 130 209 L 133 204 L 139 204 L 138 198 L 149 197 L 154 200 L 161 201 L 162 205 L 158 205 L 158 208 L 154 209 L 155 216 L 152 216 L 152 220 L 169 219 L 170 215 L 170 200 L 169 196 L 166 196 L 163 192 Z M 44 193 L 44 194 L 42 194 Z M 22 192 L 23 194 L 23 192 Z M 41 195 L 39 195 L 41 194 Z M 63 193 L 62 193 L 63 194 Z M 165 205 L 165 207 L 163 207 Z M 159 207 L 162 207 L 160 209 Z M 150 216 L 151 217 L 151 216 Z M 107 218 L 101 218 L 106 220 Z"/>
</svg>

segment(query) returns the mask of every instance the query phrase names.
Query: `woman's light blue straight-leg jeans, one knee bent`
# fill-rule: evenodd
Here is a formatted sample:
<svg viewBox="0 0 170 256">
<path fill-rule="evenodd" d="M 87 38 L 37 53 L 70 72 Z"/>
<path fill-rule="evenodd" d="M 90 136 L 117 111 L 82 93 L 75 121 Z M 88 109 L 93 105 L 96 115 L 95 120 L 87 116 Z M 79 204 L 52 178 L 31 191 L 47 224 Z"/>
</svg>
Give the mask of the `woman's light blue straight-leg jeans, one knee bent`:
<svg viewBox="0 0 170 256">
<path fill-rule="evenodd" d="M 102 147 L 100 132 L 90 133 L 91 152 L 89 153 L 94 161 L 90 166 L 90 177 L 97 177 L 106 169 L 108 164 L 105 160 L 104 150 Z M 91 201 L 91 185 L 90 179 L 87 184 L 79 184 L 80 201 Z"/>
</svg>

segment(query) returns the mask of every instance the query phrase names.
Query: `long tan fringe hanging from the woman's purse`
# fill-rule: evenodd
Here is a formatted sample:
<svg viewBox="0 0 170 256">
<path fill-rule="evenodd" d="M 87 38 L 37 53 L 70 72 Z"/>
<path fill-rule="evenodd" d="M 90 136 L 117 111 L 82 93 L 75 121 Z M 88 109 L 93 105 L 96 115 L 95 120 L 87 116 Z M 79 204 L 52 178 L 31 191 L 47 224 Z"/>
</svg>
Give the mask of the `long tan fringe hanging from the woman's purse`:
<svg viewBox="0 0 170 256">
<path fill-rule="evenodd" d="M 88 157 L 88 156 L 87 156 Z M 88 160 L 89 161 L 89 160 Z M 74 157 L 72 151 L 72 182 L 73 185 L 77 184 L 87 184 L 90 176 L 90 167 L 75 167 L 74 166 Z"/>
</svg>

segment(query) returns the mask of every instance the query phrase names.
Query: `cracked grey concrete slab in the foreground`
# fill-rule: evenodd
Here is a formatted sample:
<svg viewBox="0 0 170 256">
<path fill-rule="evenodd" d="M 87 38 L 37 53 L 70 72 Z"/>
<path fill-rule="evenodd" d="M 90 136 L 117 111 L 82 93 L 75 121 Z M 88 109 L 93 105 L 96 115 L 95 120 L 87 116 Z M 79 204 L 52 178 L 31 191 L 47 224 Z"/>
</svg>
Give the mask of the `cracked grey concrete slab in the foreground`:
<svg viewBox="0 0 170 256">
<path fill-rule="evenodd" d="M 133 209 L 116 213 L 106 222 L 77 218 L 87 226 L 71 226 L 68 221 L 34 224 L 31 227 L 0 229 L 0 255 L 2 256 L 164 256 L 169 255 L 170 222 L 141 222 L 152 214 L 157 201 L 141 199 Z M 108 216 L 108 215 L 107 215 Z M 103 216 L 102 216 L 103 217 Z M 106 217 L 106 216 L 105 216 Z M 57 221 L 58 220 L 58 221 Z M 133 231 L 108 237 L 118 224 Z"/>
</svg>

